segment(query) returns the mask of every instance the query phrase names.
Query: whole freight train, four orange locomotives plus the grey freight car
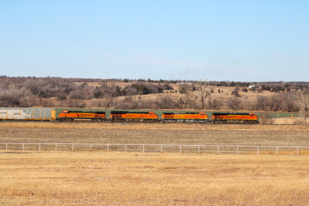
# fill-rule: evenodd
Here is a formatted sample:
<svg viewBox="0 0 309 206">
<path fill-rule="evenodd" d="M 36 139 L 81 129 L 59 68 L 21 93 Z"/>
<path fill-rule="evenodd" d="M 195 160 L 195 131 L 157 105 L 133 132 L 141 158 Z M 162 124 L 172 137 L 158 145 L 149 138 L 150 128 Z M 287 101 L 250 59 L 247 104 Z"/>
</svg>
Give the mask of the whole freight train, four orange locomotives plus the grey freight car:
<svg viewBox="0 0 309 206">
<path fill-rule="evenodd" d="M 163 112 L 158 117 L 154 111 L 111 111 L 107 117 L 104 111 L 69 111 L 63 110 L 56 117 L 54 108 L 5 108 L 0 107 L 2 120 L 55 120 L 92 122 L 150 122 L 150 123 L 212 123 L 212 124 L 259 124 L 259 118 L 254 113 L 212 113 L 208 118 L 205 112 Z"/>
</svg>

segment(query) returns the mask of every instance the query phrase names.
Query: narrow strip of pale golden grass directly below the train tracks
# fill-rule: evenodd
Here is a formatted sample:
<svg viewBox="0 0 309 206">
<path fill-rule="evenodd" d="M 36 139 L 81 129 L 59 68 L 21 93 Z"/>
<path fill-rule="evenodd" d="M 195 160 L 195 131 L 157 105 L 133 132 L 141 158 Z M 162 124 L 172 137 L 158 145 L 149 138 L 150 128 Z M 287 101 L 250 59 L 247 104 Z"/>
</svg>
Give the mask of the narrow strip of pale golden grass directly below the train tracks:
<svg viewBox="0 0 309 206">
<path fill-rule="evenodd" d="M 279 119 L 283 120 L 283 119 Z M 0 128 L 52 128 L 52 129 L 130 129 L 130 130 L 203 130 L 203 131 L 294 131 L 309 132 L 308 125 L 281 124 L 162 124 L 162 123 L 93 123 L 93 122 L 41 122 L 3 121 Z"/>
</svg>

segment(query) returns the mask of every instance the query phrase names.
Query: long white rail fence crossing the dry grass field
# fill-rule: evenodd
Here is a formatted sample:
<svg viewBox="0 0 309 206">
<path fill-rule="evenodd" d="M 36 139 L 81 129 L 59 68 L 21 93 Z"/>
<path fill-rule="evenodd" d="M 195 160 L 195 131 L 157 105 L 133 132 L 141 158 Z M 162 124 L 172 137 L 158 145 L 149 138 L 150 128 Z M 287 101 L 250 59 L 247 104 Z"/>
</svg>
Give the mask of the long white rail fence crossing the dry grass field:
<svg viewBox="0 0 309 206">
<path fill-rule="evenodd" d="M 32 147 L 31 147 L 32 145 Z M 34 145 L 34 146 L 33 146 Z M 0 143 L 0 150 L 93 150 L 94 147 L 101 146 L 95 150 L 123 151 L 123 152 L 205 152 L 205 153 L 237 153 L 237 154 L 257 154 L 259 150 L 262 153 L 272 153 L 278 155 L 278 149 L 281 152 L 298 155 L 299 149 L 309 154 L 309 146 L 236 146 L 236 145 L 157 145 L 157 144 L 79 144 L 79 143 Z M 75 146 L 75 147 L 74 147 Z M 81 146 L 83 146 L 81 148 Z M 103 146 L 103 148 L 102 148 Z M 26 148 L 25 148 L 26 147 Z M 146 148 L 145 148 L 146 147 Z M 178 148 L 178 149 L 177 149 Z M 268 150 L 267 150 L 268 149 Z M 307 150 L 306 150 L 307 149 Z"/>
</svg>

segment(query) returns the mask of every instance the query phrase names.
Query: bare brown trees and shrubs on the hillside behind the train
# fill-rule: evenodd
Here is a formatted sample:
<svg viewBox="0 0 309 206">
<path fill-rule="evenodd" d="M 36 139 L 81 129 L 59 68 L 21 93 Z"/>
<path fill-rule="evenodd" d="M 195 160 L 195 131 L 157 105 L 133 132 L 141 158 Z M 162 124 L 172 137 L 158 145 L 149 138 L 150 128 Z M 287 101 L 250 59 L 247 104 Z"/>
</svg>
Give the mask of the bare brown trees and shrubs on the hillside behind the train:
<svg viewBox="0 0 309 206">
<path fill-rule="evenodd" d="M 96 107 L 115 109 L 188 109 L 188 110 L 231 110 L 231 111 L 286 111 L 308 113 L 306 99 L 308 83 L 303 82 L 253 82 L 250 90 L 260 92 L 270 88 L 273 95 L 258 95 L 254 99 L 240 97 L 246 92 L 248 82 L 190 81 L 180 85 L 182 95 L 172 95 L 171 81 L 139 79 L 126 87 L 117 85 L 126 80 L 102 80 L 58 77 L 6 77 L 0 76 L 0 107 Z M 99 82 L 91 86 L 87 82 Z M 108 82 L 110 81 L 110 82 Z M 178 80 L 177 80 L 178 81 Z M 174 82 L 174 81 L 173 81 Z M 235 86 L 229 98 L 212 97 L 212 86 Z M 263 87 L 264 86 L 264 87 Z M 283 88 L 283 89 L 282 89 Z M 289 90 L 288 90 L 289 89 Z M 292 90 L 291 90 L 292 89 Z M 163 93 L 164 90 L 170 90 Z M 248 90 L 247 90 L 248 91 Z M 220 92 L 220 89 L 218 90 Z M 223 90 L 222 90 L 223 92 Z M 143 95 L 158 94 L 153 98 Z M 48 98 L 57 99 L 57 105 Z M 86 100 L 94 99 L 91 103 Z M 309 101 L 309 100 L 308 100 Z M 306 116 L 305 116 L 306 117 Z"/>
</svg>

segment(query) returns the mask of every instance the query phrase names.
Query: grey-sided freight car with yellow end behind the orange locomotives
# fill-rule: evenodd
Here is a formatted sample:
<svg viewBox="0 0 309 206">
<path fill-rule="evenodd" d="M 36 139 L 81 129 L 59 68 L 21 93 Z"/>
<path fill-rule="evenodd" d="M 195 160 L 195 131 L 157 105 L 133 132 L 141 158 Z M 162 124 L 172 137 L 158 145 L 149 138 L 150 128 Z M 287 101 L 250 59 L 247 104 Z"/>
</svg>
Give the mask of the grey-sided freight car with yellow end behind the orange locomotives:
<svg viewBox="0 0 309 206">
<path fill-rule="evenodd" d="M 54 108 L 0 107 L 0 121 L 2 120 L 50 121 L 55 119 L 56 119 L 56 110 Z"/>
</svg>

